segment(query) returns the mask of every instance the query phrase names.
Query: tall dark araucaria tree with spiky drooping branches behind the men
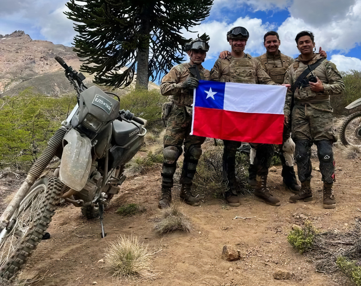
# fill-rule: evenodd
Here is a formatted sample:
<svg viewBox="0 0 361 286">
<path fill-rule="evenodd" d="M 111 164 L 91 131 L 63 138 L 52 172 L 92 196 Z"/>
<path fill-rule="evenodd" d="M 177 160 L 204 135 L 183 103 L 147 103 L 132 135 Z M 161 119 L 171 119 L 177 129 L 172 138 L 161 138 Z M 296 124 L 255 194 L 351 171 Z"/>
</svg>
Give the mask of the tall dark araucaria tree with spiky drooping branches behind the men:
<svg viewBox="0 0 361 286">
<path fill-rule="evenodd" d="M 75 23 L 75 48 L 81 70 L 95 73 L 95 83 L 148 87 L 161 73 L 183 60 L 192 29 L 209 15 L 213 0 L 70 0 L 65 12 Z M 78 24 L 79 23 L 79 24 Z M 120 69 L 127 67 L 121 73 Z"/>
</svg>

